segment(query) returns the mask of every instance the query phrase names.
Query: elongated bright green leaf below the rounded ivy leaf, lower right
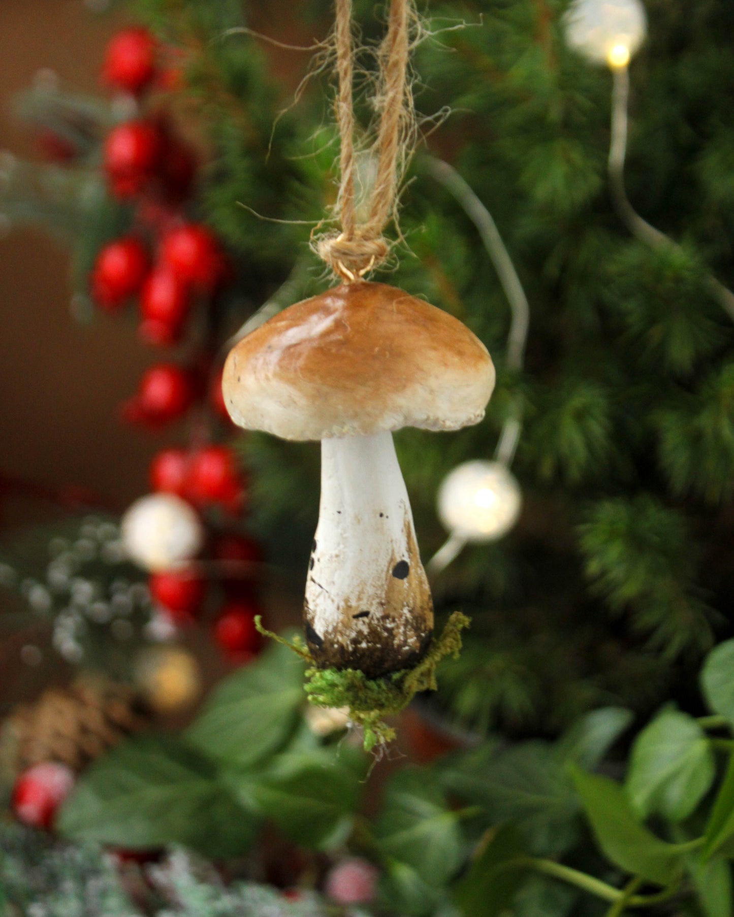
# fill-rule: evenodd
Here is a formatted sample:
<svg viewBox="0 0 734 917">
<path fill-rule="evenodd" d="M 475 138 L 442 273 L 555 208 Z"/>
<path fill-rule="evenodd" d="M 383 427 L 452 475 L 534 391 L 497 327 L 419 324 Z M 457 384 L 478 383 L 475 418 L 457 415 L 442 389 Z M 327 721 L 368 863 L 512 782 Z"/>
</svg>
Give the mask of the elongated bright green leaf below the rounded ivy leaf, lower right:
<svg viewBox="0 0 734 917">
<path fill-rule="evenodd" d="M 669 885 L 681 872 L 684 856 L 681 850 L 666 844 L 639 823 L 624 790 L 614 780 L 587 774 L 575 766 L 572 774 L 605 855 L 633 876 Z"/>
</svg>

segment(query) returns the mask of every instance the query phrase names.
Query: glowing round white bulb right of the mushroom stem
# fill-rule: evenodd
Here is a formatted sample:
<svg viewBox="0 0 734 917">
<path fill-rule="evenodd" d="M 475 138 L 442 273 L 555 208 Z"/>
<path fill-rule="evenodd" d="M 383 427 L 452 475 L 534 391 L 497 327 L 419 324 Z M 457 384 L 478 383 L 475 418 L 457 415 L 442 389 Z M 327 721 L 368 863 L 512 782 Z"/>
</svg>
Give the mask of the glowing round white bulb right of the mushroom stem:
<svg viewBox="0 0 734 917">
<path fill-rule="evenodd" d="M 467 541 L 495 541 L 517 522 L 520 487 L 506 466 L 496 461 L 467 461 L 439 487 L 443 525 Z"/>
</svg>

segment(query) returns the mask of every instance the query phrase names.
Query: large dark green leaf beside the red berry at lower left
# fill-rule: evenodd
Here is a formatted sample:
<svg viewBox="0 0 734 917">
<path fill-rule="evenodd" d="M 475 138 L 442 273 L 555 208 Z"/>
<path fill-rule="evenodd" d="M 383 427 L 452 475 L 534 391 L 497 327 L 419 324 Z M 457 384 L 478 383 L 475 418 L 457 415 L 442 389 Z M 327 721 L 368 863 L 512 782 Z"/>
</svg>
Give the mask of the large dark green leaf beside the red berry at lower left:
<svg viewBox="0 0 734 917">
<path fill-rule="evenodd" d="M 182 844 L 219 857 L 245 852 L 256 822 L 206 758 L 170 737 L 150 736 L 117 746 L 89 768 L 58 826 L 75 840 Z"/>
</svg>

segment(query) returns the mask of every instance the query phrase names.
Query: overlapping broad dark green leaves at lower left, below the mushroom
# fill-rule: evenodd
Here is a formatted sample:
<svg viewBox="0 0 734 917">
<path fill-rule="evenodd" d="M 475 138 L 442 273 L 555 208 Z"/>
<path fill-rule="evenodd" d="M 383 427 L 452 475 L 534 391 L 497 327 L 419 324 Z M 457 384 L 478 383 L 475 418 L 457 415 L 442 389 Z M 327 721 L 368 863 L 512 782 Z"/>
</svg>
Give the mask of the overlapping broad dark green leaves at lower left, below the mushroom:
<svg viewBox="0 0 734 917">
<path fill-rule="evenodd" d="M 69 837 L 122 847 L 181 844 L 241 856 L 265 820 L 307 847 L 350 832 L 361 763 L 302 720 L 303 665 L 284 646 L 222 682 L 183 735 L 118 746 L 61 813 Z"/>
</svg>

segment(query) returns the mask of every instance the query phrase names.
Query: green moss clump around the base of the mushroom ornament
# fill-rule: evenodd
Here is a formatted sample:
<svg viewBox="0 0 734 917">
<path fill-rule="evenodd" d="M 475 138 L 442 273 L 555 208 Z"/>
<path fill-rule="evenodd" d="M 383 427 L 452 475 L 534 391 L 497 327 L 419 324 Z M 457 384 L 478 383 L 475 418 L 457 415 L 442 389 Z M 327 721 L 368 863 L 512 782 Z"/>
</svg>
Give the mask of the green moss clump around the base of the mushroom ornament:
<svg viewBox="0 0 734 917">
<path fill-rule="evenodd" d="M 450 615 L 443 633 L 434 637 L 426 655 L 415 668 L 404 668 L 383 679 L 368 679 L 356 668 L 317 668 L 314 658 L 297 638 L 294 643 L 266 630 L 261 617 L 255 626 L 264 636 L 288 646 L 309 663 L 304 688 L 309 702 L 317 707 L 348 707 L 350 720 L 364 732 L 364 750 L 384 746 L 395 738 L 395 729 L 384 722 L 386 716 L 405 710 L 419 691 L 437 691 L 436 668 L 447 656 L 459 657 L 462 630 L 471 620 L 461 612 Z"/>
</svg>

